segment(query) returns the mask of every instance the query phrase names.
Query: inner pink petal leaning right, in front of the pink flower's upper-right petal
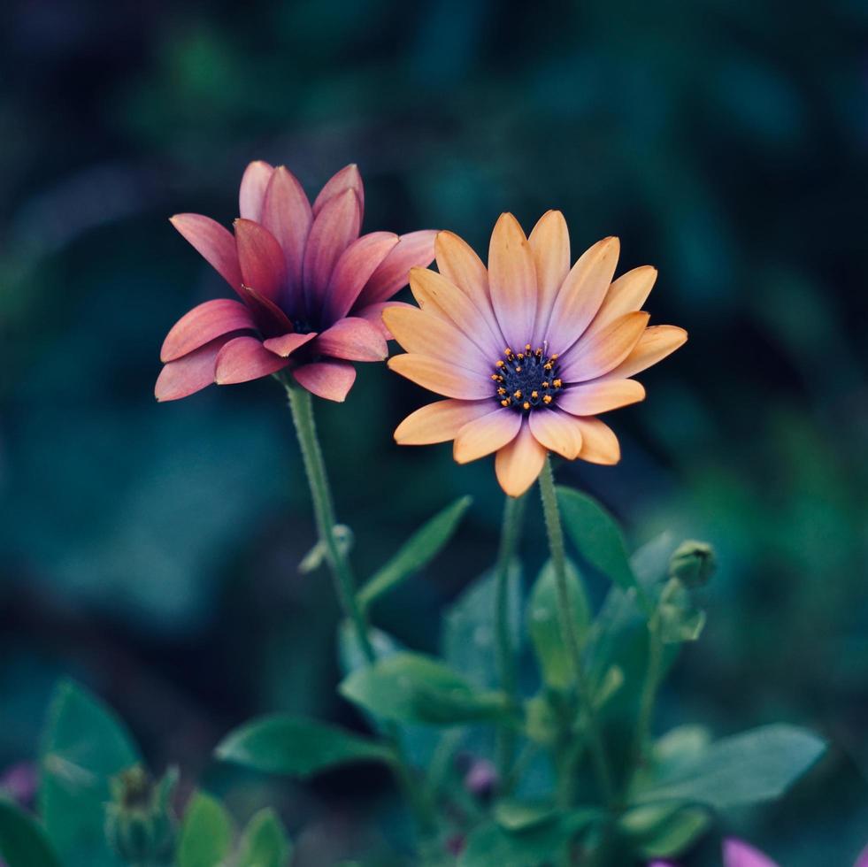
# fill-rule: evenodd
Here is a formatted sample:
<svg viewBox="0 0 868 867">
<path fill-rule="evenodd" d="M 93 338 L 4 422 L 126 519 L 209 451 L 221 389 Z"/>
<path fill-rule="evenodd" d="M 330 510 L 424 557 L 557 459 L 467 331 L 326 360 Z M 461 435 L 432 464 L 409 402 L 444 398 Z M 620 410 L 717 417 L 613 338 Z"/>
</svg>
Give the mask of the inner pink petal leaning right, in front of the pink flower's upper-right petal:
<svg viewBox="0 0 868 867">
<path fill-rule="evenodd" d="M 352 189 L 328 199 L 314 218 L 304 250 L 304 298 L 308 311 L 322 309 L 334 265 L 357 239 L 361 221 L 361 206 Z"/>
</svg>

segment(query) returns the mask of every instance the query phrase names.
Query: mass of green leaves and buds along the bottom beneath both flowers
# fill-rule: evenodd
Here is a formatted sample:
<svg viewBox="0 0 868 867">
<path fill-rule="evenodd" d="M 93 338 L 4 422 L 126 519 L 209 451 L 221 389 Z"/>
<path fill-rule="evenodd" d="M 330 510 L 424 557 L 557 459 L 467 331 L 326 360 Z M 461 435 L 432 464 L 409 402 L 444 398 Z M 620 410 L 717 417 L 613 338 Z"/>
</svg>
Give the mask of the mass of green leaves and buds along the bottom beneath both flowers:
<svg viewBox="0 0 868 867">
<path fill-rule="evenodd" d="M 456 863 L 457 852 L 460 867 L 527 867 L 581 853 L 618 864 L 679 855 L 719 811 L 785 792 L 825 748 L 793 726 L 766 725 L 723 740 L 695 725 L 650 744 L 641 737 L 645 702 L 680 647 L 702 632 L 694 589 L 707 579 L 710 549 L 687 543 L 672 556 L 664 537 L 629 557 L 598 503 L 569 488 L 557 495 L 576 555 L 566 573 L 567 617 L 580 642 L 590 710 L 575 694 L 554 565 L 542 567 L 525 598 L 514 561 L 457 599 L 443 621 L 439 657 L 372 629 L 377 659 L 367 664 L 356 634 L 342 625 L 338 688 L 371 734 L 273 714 L 230 733 L 217 758 L 305 779 L 352 763 L 397 769 L 409 757 L 418 775 L 411 796 L 429 817 L 419 857 Z M 369 611 L 429 562 L 468 505 L 466 498 L 453 503 L 415 533 L 359 590 L 362 607 Z M 583 570 L 611 581 L 596 612 Z M 511 650 L 526 663 L 514 694 L 503 688 L 495 663 L 498 581 L 505 582 Z M 591 715 L 611 761 L 615 792 L 607 796 L 591 773 Z M 494 736 L 509 740 L 505 759 L 495 756 Z M 468 782 L 460 755 L 492 769 L 497 758 L 499 775 L 492 771 L 486 785 Z M 176 826 L 173 774 L 151 784 L 123 725 L 80 687 L 58 690 L 40 772 L 38 821 L 0 803 L 0 852 L 9 867 L 280 867 L 291 859 L 287 834 L 268 809 L 239 835 L 227 809 L 196 792 Z"/>
</svg>

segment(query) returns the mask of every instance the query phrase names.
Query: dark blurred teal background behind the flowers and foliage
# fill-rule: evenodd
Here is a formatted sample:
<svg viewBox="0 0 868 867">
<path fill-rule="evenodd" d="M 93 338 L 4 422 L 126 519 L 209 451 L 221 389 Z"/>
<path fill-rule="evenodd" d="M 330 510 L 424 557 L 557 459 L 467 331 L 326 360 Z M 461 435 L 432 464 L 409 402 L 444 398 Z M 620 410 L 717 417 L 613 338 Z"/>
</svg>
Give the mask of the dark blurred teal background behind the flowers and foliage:
<svg viewBox="0 0 868 867">
<path fill-rule="evenodd" d="M 707 632 L 659 728 L 824 733 L 810 779 L 722 829 L 785 865 L 852 862 L 868 841 L 868 6 L 8 0 L 0 69 L 0 768 L 34 755 L 70 674 L 155 768 L 180 762 L 242 817 L 277 802 L 306 863 L 379 845 L 373 771 L 293 786 L 209 765 L 257 712 L 358 722 L 334 694 L 326 576 L 296 570 L 313 527 L 279 387 L 152 396 L 166 330 L 227 293 L 166 218 L 228 223 L 254 158 L 310 193 L 357 162 L 368 231 L 449 228 L 484 252 L 501 211 L 529 231 L 560 208 L 575 256 L 618 234 L 619 271 L 657 265 L 652 321 L 690 341 L 611 416 L 622 463 L 559 478 L 636 545 L 665 528 L 715 544 Z M 449 552 L 376 611 L 432 649 L 435 610 L 494 556 L 502 499 L 490 461 L 394 445 L 424 401 L 359 365 L 347 403 L 317 409 L 361 572 L 475 497 Z M 532 573 L 534 505 L 526 552 Z"/>
</svg>

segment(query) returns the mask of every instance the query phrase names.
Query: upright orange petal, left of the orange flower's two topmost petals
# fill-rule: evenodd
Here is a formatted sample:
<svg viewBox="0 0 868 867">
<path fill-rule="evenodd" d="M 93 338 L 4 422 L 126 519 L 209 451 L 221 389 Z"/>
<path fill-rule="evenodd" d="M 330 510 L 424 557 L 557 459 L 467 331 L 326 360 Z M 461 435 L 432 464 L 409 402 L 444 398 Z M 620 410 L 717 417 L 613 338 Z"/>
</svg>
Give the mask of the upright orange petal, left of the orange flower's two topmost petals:
<svg viewBox="0 0 868 867">
<path fill-rule="evenodd" d="M 536 265 L 518 220 L 501 214 L 488 246 L 488 289 L 497 321 L 511 347 L 523 347 L 534 336 Z"/>
</svg>

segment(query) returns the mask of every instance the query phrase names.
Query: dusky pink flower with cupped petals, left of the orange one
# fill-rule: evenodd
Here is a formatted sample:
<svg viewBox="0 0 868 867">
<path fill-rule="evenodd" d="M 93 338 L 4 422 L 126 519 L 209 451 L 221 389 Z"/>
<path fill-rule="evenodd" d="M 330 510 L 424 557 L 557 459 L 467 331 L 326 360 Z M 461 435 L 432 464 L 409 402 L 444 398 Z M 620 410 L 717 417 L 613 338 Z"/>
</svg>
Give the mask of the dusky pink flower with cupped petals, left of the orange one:
<svg viewBox="0 0 868 867">
<path fill-rule="evenodd" d="M 354 361 L 382 361 L 390 336 L 382 311 L 410 269 L 434 259 L 433 231 L 359 235 L 365 193 L 355 165 L 326 183 L 311 206 L 284 166 L 250 163 L 234 236 L 200 214 L 172 225 L 239 295 L 194 307 L 166 335 L 158 401 L 211 382 L 229 385 L 288 368 L 319 397 L 342 401 Z"/>
</svg>

